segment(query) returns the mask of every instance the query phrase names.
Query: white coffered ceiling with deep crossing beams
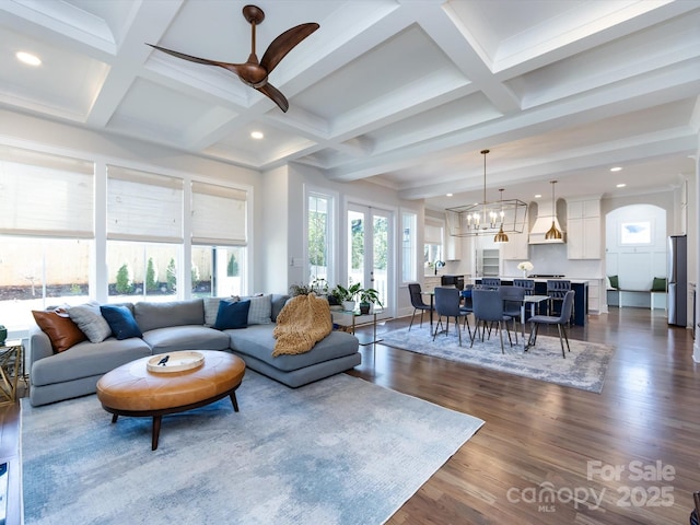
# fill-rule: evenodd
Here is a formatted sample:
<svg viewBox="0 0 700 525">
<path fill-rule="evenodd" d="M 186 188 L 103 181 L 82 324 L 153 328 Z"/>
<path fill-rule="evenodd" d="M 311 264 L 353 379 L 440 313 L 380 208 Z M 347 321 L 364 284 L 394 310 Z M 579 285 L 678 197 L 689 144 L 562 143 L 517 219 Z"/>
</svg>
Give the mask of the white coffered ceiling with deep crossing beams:
<svg viewBox="0 0 700 525">
<path fill-rule="evenodd" d="M 270 74 L 288 113 L 145 45 L 244 62 L 245 3 L 1 0 L 0 107 L 435 209 L 480 200 L 486 148 L 492 199 L 548 196 L 553 178 L 561 196 L 657 191 L 695 172 L 698 0 L 260 0 L 258 57 L 320 24 Z"/>
</svg>

